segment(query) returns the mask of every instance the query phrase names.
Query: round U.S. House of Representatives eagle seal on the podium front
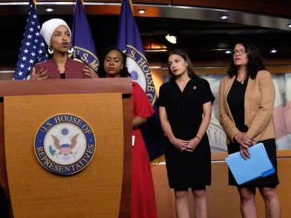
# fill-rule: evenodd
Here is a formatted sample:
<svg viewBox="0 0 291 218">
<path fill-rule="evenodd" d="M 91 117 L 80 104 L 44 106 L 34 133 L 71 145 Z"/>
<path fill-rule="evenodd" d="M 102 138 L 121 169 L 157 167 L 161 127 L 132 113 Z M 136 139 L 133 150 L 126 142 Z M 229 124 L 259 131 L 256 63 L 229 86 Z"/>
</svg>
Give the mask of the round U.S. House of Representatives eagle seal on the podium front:
<svg viewBox="0 0 291 218">
<path fill-rule="evenodd" d="M 58 114 L 44 121 L 35 134 L 34 145 L 39 163 L 62 176 L 84 170 L 96 148 L 90 125 L 73 114 Z"/>
</svg>

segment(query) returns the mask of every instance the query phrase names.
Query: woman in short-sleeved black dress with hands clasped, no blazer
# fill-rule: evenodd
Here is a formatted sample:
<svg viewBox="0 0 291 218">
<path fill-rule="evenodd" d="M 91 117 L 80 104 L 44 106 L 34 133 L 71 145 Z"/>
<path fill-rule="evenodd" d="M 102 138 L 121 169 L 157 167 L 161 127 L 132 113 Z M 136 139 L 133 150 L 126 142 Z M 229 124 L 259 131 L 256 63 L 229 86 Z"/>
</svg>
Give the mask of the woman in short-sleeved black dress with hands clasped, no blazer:
<svg viewBox="0 0 291 218">
<path fill-rule="evenodd" d="M 195 217 L 207 217 L 206 185 L 211 184 L 211 154 L 206 130 L 214 96 L 209 82 L 193 71 L 181 50 L 168 56 L 170 82 L 159 89 L 159 116 L 166 134 L 165 156 L 170 188 L 175 190 L 178 218 L 189 217 L 188 188 L 195 201 Z"/>
</svg>

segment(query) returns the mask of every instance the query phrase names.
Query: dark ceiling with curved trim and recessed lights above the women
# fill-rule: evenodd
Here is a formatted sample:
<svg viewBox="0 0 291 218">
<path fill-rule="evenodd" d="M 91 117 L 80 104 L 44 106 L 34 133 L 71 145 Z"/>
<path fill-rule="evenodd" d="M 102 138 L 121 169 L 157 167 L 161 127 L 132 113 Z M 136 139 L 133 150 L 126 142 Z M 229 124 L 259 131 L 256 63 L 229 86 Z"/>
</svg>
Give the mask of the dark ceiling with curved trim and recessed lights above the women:
<svg viewBox="0 0 291 218">
<path fill-rule="evenodd" d="M 21 39 L 26 26 L 28 2 L 13 4 L 0 1 L 0 66 L 1 69 L 14 69 Z M 116 41 L 120 3 L 85 3 L 87 18 L 95 40 L 97 53 Z M 44 8 L 53 7 L 55 12 L 48 14 Z M 73 21 L 74 2 L 39 2 L 37 12 L 42 24 L 46 19 L 60 17 L 71 26 Z M 147 12 L 138 15 L 136 10 L 145 8 Z M 220 15 L 229 15 L 222 21 Z M 290 17 L 173 5 L 154 5 L 134 3 L 136 24 L 145 46 L 149 62 L 166 62 L 163 52 L 148 52 L 149 48 L 166 46 L 184 49 L 194 62 L 200 64 L 223 65 L 230 55 L 224 53 L 232 48 L 234 40 L 246 38 L 261 49 L 267 60 L 283 60 L 291 64 L 291 30 L 286 27 L 291 23 Z M 179 35 L 177 44 L 170 44 L 164 38 L 168 30 L 175 28 Z M 277 53 L 270 53 L 272 48 Z"/>
</svg>

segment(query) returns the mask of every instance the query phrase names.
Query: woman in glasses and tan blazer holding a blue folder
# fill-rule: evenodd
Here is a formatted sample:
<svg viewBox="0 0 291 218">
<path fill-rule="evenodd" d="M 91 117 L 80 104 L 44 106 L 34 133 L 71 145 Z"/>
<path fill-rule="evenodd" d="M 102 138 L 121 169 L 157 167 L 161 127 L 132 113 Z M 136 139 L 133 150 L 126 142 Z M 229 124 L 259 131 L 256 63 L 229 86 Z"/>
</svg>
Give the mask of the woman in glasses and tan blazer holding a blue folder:
<svg viewBox="0 0 291 218">
<path fill-rule="evenodd" d="M 249 146 L 263 143 L 276 169 L 276 144 L 273 125 L 275 89 L 272 77 L 258 48 L 249 42 L 238 42 L 233 59 L 219 89 L 219 121 L 227 134 L 229 154 L 239 152 L 249 157 Z M 276 170 L 277 171 L 277 170 Z M 276 192 L 277 172 L 238 185 L 229 171 L 229 185 L 236 185 L 240 194 L 243 217 L 256 217 L 255 194 L 259 189 L 265 202 L 265 217 L 280 217 L 281 207 Z"/>
</svg>

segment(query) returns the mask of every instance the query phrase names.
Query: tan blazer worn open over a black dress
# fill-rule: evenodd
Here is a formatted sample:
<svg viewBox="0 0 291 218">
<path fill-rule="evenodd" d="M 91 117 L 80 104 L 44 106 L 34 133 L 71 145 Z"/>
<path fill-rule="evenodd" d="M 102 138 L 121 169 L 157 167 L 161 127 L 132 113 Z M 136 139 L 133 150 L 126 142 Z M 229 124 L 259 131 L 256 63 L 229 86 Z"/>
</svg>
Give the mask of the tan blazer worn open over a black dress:
<svg viewBox="0 0 291 218">
<path fill-rule="evenodd" d="M 239 132 L 227 104 L 227 95 L 235 78 L 235 76 L 222 78 L 219 87 L 218 120 L 227 134 L 227 145 Z M 272 77 L 268 71 L 258 71 L 254 80 L 249 78 L 245 91 L 245 125 L 249 128 L 247 134 L 254 137 L 253 144 L 260 140 L 275 138 L 273 123 L 275 95 Z"/>
</svg>

